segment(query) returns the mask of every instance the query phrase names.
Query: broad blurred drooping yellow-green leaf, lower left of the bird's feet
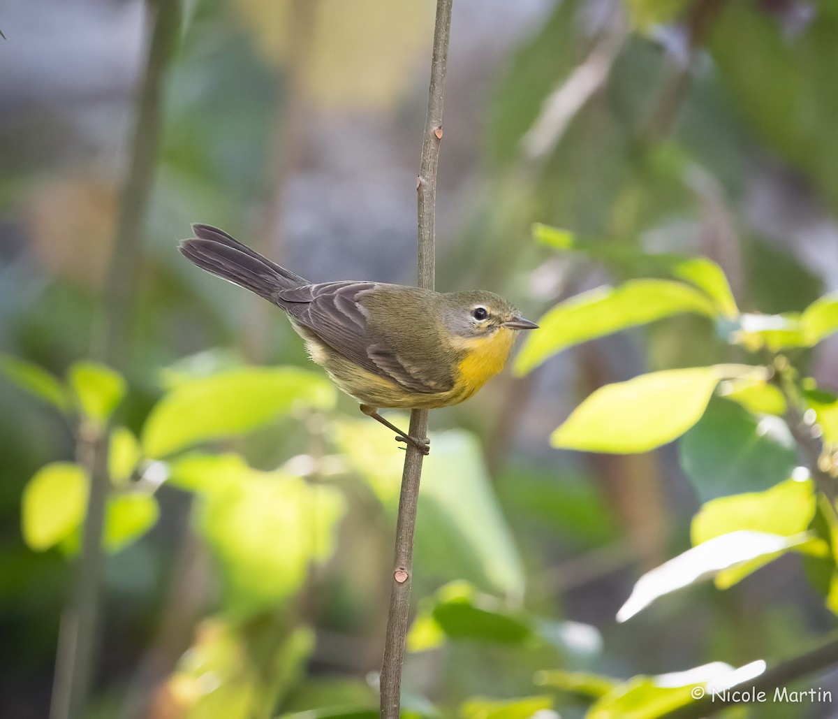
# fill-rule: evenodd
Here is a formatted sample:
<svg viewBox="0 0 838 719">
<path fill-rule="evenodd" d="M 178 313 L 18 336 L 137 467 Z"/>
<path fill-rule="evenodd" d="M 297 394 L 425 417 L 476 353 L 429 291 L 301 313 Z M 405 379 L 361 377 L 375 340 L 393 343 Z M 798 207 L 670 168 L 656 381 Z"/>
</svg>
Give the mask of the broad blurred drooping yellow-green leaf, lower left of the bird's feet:
<svg viewBox="0 0 838 719">
<path fill-rule="evenodd" d="M 312 561 L 334 546 L 343 498 L 287 473 L 251 473 L 204 494 L 199 527 L 220 561 L 225 605 L 244 618 L 303 586 Z"/>
</svg>

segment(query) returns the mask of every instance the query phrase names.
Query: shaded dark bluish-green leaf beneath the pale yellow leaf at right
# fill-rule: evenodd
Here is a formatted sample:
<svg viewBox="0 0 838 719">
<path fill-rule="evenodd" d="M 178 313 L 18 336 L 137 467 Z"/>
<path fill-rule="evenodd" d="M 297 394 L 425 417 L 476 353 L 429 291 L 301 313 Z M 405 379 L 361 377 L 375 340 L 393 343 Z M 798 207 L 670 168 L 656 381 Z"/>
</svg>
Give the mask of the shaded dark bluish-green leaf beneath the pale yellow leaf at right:
<svg viewBox="0 0 838 719">
<path fill-rule="evenodd" d="M 678 456 L 703 502 L 768 489 L 788 479 L 797 466 L 797 447 L 783 420 L 759 419 L 734 402 L 716 398 L 681 438 Z"/>
</svg>

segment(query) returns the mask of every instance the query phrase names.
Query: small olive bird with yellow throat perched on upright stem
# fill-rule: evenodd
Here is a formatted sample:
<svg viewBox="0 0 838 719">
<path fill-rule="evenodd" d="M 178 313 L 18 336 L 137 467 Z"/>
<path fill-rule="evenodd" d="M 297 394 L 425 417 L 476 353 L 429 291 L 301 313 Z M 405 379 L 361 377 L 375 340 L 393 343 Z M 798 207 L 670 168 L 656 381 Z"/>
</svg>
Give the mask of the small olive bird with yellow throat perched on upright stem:
<svg viewBox="0 0 838 719">
<path fill-rule="evenodd" d="M 312 284 L 222 230 L 192 225 L 178 249 L 197 266 L 285 310 L 311 358 L 365 415 L 427 454 L 379 407 L 433 409 L 467 400 L 504 369 L 515 334 L 535 329 L 494 292 L 433 292 L 382 282 Z"/>
</svg>

